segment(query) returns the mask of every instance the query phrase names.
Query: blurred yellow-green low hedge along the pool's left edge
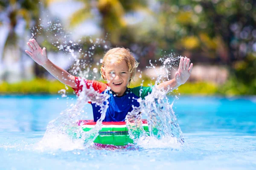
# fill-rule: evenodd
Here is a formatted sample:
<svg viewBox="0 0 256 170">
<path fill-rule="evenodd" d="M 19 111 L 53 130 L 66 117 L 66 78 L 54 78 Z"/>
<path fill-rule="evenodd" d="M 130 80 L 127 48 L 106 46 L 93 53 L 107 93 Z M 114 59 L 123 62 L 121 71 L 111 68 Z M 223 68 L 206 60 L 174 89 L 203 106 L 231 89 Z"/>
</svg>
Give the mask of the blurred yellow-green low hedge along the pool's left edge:
<svg viewBox="0 0 256 170">
<path fill-rule="evenodd" d="M 33 79 L 12 84 L 2 82 L 0 84 L 0 94 L 58 94 L 61 89 L 65 89 L 66 93 L 72 94 L 73 89 L 67 87 L 67 90 L 66 87 L 57 80 L 49 81 L 46 79 Z"/>
</svg>

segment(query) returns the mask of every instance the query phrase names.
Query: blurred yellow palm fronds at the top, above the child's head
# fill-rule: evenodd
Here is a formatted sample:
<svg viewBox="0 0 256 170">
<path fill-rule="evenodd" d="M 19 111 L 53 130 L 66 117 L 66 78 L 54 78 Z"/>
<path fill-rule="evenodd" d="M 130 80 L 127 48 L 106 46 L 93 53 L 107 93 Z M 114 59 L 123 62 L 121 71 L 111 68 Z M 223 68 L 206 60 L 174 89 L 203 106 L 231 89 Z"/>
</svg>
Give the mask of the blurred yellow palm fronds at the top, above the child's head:
<svg viewBox="0 0 256 170">
<path fill-rule="evenodd" d="M 103 29 L 103 35 L 107 33 L 111 42 L 119 44 L 120 36 L 127 23 L 124 15 L 130 11 L 149 12 L 147 0 L 77 0 L 84 3 L 84 6 L 77 10 L 70 17 L 70 26 L 77 26 L 79 23 L 93 17 L 92 9 L 99 14 L 99 26 Z"/>
</svg>

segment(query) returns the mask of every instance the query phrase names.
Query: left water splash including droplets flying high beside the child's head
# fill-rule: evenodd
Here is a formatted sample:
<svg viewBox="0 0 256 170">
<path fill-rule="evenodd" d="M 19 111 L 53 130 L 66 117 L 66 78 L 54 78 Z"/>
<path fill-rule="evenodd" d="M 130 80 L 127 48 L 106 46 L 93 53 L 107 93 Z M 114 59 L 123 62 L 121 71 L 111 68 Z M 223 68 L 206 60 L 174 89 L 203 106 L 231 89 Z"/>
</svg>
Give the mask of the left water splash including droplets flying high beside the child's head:
<svg viewBox="0 0 256 170">
<path fill-rule="evenodd" d="M 93 41 L 93 39 L 90 38 L 90 43 L 93 45 L 89 49 L 83 50 L 83 45 L 78 43 L 81 42 L 81 40 L 78 42 L 71 40 L 70 37 L 72 33 L 65 31 L 62 24 L 58 22 L 59 20 L 54 20 L 53 22 L 50 20 L 41 20 L 40 26 L 32 28 L 32 37 L 37 33 L 41 34 L 41 31 L 46 31 L 50 34 L 53 33 L 54 36 L 51 36 L 51 39 L 48 41 L 52 42 L 52 45 L 57 47 L 60 51 L 63 51 L 64 54 L 69 54 L 74 61 L 69 72 L 73 75 L 79 75 L 79 77 L 83 77 L 84 79 L 90 78 L 89 72 L 91 68 L 90 63 L 94 55 L 93 50 L 96 50 L 96 47 L 101 46 L 108 48 L 108 45 L 105 45 L 107 42 L 99 38 L 97 38 L 96 41 Z M 40 29 L 37 29 L 39 27 Z M 105 37 L 105 39 L 106 38 L 107 37 Z M 81 39 L 85 39 L 85 37 Z M 64 57 L 66 56 L 64 55 Z M 65 59 L 67 59 L 67 57 Z M 92 73 L 97 74 L 97 70 L 97 68 L 94 68 Z M 92 77 L 92 79 L 96 79 L 96 76 Z M 86 87 L 83 81 L 81 81 L 81 85 Z M 68 89 L 67 86 L 66 89 Z M 59 93 L 61 94 L 61 97 L 67 97 L 65 89 L 60 90 Z M 108 97 L 108 94 L 105 94 L 105 92 L 99 94 L 97 91 L 94 91 L 92 87 L 89 89 L 83 88 L 76 104 L 70 105 L 70 107 L 63 111 L 58 118 L 49 122 L 43 139 L 35 145 L 35 148 L 40 150 L 45 150 L 47 148 L 73 150 L 83 149 L 90 146 L 101 129 L 102 120 L 105 118 L 106 109 L 108 108 Z M 90 130 L 90 132 L 84 132 L 81 126 L 76 125 L 78 120 L 87 119 L 87 113 L 84 113 L 83 110 L 84 105 L 86 105 L 87 102 L 100 105 L 102 113 L 95 128 Z"/>
</svg>

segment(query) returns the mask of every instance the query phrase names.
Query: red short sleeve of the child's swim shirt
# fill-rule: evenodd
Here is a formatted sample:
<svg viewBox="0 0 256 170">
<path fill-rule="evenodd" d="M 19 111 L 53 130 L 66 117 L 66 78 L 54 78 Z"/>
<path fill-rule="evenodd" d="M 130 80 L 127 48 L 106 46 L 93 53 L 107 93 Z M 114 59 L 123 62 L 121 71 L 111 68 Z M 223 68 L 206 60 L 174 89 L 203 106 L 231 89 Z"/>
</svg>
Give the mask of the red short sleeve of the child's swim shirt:
<svg viewBox="0 0 256 170">
<path fill-rule="evenodd" d="M 73 88 L 73 90 L 76 92 L 76 95 L 79 95 L 79 93 L 83 90 L 83 83 L 84 81 L 86 88 L 93 87 L 95 91 L 98 91 L 99 93 L 102 93 L 102 91 L 105 91 L 107 88 L 107 85 L 103 82 L 99 82 L 96 80 L 87 80 L 87 79 L 82 79 L 81 77 L 75 77 L 76 81 L 76 88 Z"/>
</svg>

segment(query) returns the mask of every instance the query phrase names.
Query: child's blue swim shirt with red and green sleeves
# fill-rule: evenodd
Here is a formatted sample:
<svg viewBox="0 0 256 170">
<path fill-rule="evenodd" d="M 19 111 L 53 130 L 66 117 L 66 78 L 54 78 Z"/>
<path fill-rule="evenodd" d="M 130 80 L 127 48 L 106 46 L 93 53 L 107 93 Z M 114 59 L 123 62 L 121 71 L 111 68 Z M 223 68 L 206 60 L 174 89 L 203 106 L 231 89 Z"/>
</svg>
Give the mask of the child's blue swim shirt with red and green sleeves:
<svg viewBox="0 0 256 170">
<path fill-rule="evenodd" d="M 76 87 L 73 88 L 77 95 L 82 90 L 82 86 L 80 85 L 81 80 L 84 80 L 85 85 L 87 88 L 92 86 L 95 91 L 99 93 L 103 93 L 105 89 L 108 87 L 107 84 L 95 80 L 85 80 L 79 77 L 76 77 Z M 125 116 L 128 112 L 133 110 L 133 106 L 139 107 L 140 103 L 137 102 L 137 99 L 140 97 L 142 99 L 145 98 L 148 94 L 152 91 L 151 87 L 136 87 L 136 88 L 126 88 L 125 93 L 122 96 L 116 96 L 113 91 L 107 91 L 106 93 L 109 94 L 108 98 L 108 109 L 106 111 L 104 122 L 121 122 L 125 121 Z M 96 122 L 101 116 L 100 106 L 91 103 L 93 107 L 93 119 Z"/>
</svg>

